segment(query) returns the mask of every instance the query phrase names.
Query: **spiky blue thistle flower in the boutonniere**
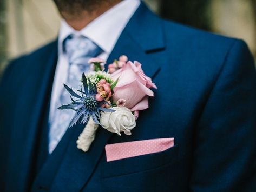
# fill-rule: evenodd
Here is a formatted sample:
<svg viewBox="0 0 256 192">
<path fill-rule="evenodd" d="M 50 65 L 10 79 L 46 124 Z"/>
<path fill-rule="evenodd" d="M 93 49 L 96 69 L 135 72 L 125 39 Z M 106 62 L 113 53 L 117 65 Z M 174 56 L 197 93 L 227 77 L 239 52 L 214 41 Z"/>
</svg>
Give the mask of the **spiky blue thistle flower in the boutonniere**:
<svg viewBox="0 0 256 192">
<path fill-rule="evenodd" d="M 106 101 L 99 102 L 96 100 L 95 95 L 97 94 L 97 87 L 95 83 L 92 83 L 89 78 L 82 75 L 82 82 L 84 91 L 78 90 L 81 95 L 76 94 L 69 88 L 67 85 L 64 84 L 65 89 L 70 93 L 70 98 L 72 103 L 68 105 L 62 105 L 58 109 L 72 109 L 76 111 L 75 116 L 73 117 L 72 121 L 69 124 L 69 127 L 72 127 L 76 122 L 81 120 L 81 123 L 87 123 L 90 117 L 93 118 L 96 124 L 100 124 L 100 111 L 104 112 L 114 112 L 113 109 L 102 108 L 103 104 L 109 104 Z M 73 97 L 76 98 L 74 100 Z"/>
</svg>

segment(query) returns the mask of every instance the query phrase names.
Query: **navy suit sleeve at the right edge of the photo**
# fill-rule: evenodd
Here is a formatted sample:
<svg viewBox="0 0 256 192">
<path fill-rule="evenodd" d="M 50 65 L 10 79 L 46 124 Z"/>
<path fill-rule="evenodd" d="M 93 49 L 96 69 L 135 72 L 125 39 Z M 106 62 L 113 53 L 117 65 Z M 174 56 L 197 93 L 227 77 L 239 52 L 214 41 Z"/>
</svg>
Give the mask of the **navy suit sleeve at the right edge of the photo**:
<svg viewBox="0 0 256 192">
<path fill-rule="evenodd" d="M 256 191 L 256 72 L 235 40 L 196 128 L 191 191 Z"/>
</svg>

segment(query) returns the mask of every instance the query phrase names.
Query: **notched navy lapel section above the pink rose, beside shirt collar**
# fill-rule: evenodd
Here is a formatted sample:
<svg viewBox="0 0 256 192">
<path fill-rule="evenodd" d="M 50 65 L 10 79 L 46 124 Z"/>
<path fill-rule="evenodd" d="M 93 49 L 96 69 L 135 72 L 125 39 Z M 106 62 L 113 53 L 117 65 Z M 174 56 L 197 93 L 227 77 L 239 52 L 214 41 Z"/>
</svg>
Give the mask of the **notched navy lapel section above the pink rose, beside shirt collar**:
<svg viewBox="0 0 256 192">
<path fill-rule="evenodd" d="M 142 63 L 142 69 L 145 74 L 154 78 L 160 70 L 160 64 L 150 55 L 163 51 L 165 48 L 162 20 L 141 2 L 141 5 L 123 30 L 107 63 L 112 63 L 119 56 L 126 55 L 130 61 Z"/>
</svg>

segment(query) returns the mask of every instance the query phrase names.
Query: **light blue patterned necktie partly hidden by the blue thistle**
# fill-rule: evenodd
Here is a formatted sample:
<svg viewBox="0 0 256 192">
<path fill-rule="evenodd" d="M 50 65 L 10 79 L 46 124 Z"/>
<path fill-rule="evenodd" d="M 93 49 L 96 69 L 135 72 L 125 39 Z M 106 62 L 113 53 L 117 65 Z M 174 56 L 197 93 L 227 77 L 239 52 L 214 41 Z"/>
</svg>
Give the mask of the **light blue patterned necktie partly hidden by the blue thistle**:
<svg viewBox="0 0 256 192">
<path fill-rule="evenodd" d="M 69 35 L 63 41 L 63 51 L 69 60 L 68 79 L 65 84 L 72 87 L 74 91 L 81 89 L 81 77 L 83 72 L 90 70 L 88 60 L 91 57 L 98 56 L 102 49 L 99 48 L 94 42 L 84 36 Z M 63 86 L 63 85 L 59 85 Z M 65 131 L 68 129 L 71 119 L 75 115 L 73 110 L 58 110 L 57 108 L 63 104 L 70 104 L 70 94 L 64 89 L 61 92 L 59 100 L 56 102 L 56 110 L 54 116 L 50 120 L 49 131 L 49 153 L 60 142 Z"/>
</svg>

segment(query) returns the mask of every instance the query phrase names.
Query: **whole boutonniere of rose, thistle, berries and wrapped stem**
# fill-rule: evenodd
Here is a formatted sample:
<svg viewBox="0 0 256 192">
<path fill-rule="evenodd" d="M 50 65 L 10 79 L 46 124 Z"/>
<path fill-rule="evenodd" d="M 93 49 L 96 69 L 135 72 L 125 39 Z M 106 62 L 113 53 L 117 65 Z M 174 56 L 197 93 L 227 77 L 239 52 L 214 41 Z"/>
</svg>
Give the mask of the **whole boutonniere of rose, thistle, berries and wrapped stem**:
<svg viewBox="0 0 256 192">
<path fill-rule="evenodd" d="M 87 123 L 76 142 L 84 152 L 89 150 L 99 125 L 118 135 L 131 135 L 139 111 L 147 109 L 148 97 L 154 96 L 150 88 L 157 89 L 144 74 L 141 63 L 121 56 L 108 65 L 107 72 L 105 63 L 100 58 L 91 58 L 91 72 L 82 74 L 81 90 L 74 91 L 64 84 L 71 103 L 58 108 L 76 111 L 70 127 L 77 122 Z"/>
</svg>

